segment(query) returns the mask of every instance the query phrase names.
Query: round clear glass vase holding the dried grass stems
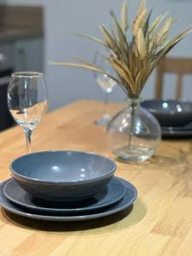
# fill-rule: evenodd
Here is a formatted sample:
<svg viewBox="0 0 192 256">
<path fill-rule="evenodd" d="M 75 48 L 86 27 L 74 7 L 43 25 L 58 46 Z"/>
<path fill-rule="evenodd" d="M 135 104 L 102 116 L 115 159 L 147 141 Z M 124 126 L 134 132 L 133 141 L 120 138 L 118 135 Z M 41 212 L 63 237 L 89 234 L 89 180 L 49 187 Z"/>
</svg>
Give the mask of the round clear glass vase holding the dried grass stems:
<svg viewBox="0 0 192 256">
<path fill-rule="evenodd" d="M 160 145 L 158 121 L 135 99 L 111 119 L 107 133 L 109 147 L 123 161 L 148 160 Z"/>
</svg>

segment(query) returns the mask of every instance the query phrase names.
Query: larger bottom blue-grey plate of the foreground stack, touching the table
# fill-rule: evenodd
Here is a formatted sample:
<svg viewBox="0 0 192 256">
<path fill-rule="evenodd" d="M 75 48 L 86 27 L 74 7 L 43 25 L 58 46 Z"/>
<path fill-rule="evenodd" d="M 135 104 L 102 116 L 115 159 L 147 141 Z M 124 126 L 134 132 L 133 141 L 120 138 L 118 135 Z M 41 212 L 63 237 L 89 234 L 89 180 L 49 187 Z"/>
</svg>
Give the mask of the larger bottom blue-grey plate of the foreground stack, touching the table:
<svg viewBox="0 0 192 256">
<path fill-rule="evenodd" d="M 125 196 L 124 198 L 113 204 L 110 207 L 103 208 L 102 211 L 95 212 L 95 213 L 82 213 L 82 214 L 74 214 L 74 215 L 67 215 L 67 214 L 57 214 L 57 215 L 48 215 L 43 213 L 37 213 L 33 210 L 26 210 L 24 207 L 19 207 L 9 201 L 5 195 L 3 194 L 3 188 L 6 182 L 0 184 L 0 205 L 9 212 L 13 212 L 17 215 L 26 217 L 26 218 L 33 218 L 45 221 L 60 221 L 60 222 L 73 222 L 73 221 L 85 221 L 95 218 L 103 218 L 109 215 L 112 215 L 117 212 L 121 212 L 125 210 L 127 207 L 130 207 L 131 204 L 136 201 L 137 199 L 137 189 L 129 182 L 120 179 L 125 186 Z"/>
</svg>

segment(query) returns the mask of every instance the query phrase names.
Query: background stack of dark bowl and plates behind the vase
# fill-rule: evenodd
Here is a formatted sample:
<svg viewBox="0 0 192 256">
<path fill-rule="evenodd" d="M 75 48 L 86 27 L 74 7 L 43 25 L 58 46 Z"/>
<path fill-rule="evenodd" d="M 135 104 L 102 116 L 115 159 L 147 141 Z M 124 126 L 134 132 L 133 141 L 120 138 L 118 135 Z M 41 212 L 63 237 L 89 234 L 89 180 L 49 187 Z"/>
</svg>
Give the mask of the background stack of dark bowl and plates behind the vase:
<svg viewBox="0 0 192 256">
<path fill-rule="evenodd" d="M 148 100 L 142 107 L 158 119 L 163 137 L 192 137 L 192 102 Z"/>
</svg>

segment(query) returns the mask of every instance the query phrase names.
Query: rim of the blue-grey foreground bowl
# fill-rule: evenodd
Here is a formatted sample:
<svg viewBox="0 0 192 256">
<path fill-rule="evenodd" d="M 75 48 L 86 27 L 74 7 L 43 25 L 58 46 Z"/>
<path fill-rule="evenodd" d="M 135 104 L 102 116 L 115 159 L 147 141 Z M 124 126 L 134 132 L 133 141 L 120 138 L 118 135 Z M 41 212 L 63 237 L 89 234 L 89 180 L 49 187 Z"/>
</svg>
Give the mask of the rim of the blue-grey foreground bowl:
<svg viewBox="0 0 192 256">
<path fill-rule="evenodd" d="M 96 155 L 96 156 L 101 157 L 102 159 L 108 160 L 112 164 L 112 168 L 111 168 L 110 172 L 108 172 L 107 174 L 103 174 L 100 177 L 88 178 L 88 179 L 85 179 L 85 180 L 77 180 L 77 181 L 65 181 L 65 182 L 64 181 L 54 182 L 54 181 L 47 181 L 47 180 L 38 179 L 38 178 L 35 178 L 35 177 L 26 177 L 25 175 L 21 175 L 20 173 L 15 172 L 15 170 L 13 168 L 13 165 L 14 165 L 15 161 L 20 160 L 22 158 L 25 158 L 27 155 L 42 154 L 42 153 L 56 153 L 56 152 L 61 152 L 61 153 L 73 152 L 73 153 L 78 153 L 78 154 Z M 31 154 L 23 154 L 23 155 L 16 158 L 15 160 L 13 160 L 10 163 L 9 168 L 10 168 L 10 171 L 13 173 L 14 177 L 18 177 L 22 180 L 26 180 L 27 182 L 32 182 L 33 181 L 33 182 L 36 182 L 36 183 L 63 184 L 63 185 L 64 184 L 83 184 L 83 183 L 89 183 L 90 181 L 95 182 L 96 180 L 100 180 L 101 178 L 103 179 L 104 177 L 110 177 L 113 174 L 113 172 L 115 172 L 115 170 L 117 169 L 117 165 L 113 160 L 109 159 L 106 156 L 103 156 L 102 154 L 96 154 L 94 152 L 78 151 L 78 150 L 45 150 L 45 151 L 38 151 L 38 152 L 35 152 L 35 153 L 31 153 Z"/>
</svg>

